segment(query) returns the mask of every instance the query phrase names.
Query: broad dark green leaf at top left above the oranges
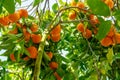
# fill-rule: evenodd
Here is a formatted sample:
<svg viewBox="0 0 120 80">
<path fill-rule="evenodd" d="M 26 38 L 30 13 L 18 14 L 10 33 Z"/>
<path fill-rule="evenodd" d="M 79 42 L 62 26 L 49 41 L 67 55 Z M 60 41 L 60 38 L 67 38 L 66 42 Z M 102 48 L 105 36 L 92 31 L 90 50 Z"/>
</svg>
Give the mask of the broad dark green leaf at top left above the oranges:
<svg viewBox="0 0 120 80">
<path fill-rule="evenodd" d="M 14 0 L 4 0 L 3 7 L 9 12 L 15 12 L 15 2 Z"/>
</svg>

